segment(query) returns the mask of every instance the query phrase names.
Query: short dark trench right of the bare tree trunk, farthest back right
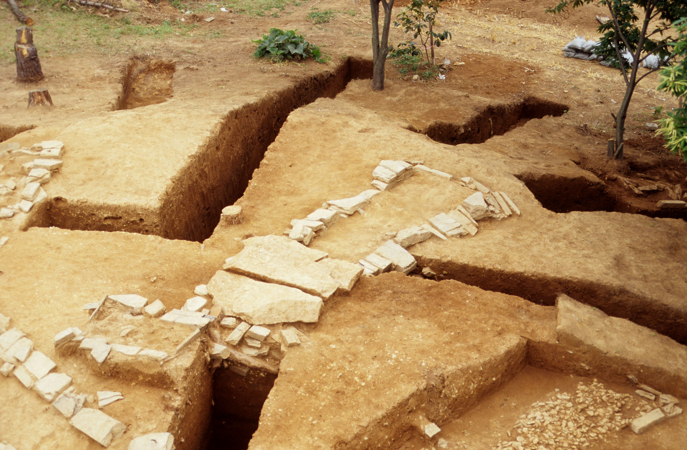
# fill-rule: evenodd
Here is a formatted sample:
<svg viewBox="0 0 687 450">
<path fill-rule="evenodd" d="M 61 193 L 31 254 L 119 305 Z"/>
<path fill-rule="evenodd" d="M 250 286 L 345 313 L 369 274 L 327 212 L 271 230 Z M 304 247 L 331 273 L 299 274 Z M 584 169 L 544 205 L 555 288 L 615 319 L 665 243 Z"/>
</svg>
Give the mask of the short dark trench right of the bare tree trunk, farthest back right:
<svg viewBox="0 0 687 450">
<path fill-rule="evenodd" d="M 427 134 L 433 141 L 444 144 L 479 144 L 493 136 L 523 126 L 532 119 L 541 119 L 545 116 L 559 117 L 567 110 L 568 107 L 563 104 L 528 97 L 511 104 L 489 105 L 467 123 L 433 121 L 424 130 L 418 130 L 413 126 L 408 129 Z"/>
</svg>

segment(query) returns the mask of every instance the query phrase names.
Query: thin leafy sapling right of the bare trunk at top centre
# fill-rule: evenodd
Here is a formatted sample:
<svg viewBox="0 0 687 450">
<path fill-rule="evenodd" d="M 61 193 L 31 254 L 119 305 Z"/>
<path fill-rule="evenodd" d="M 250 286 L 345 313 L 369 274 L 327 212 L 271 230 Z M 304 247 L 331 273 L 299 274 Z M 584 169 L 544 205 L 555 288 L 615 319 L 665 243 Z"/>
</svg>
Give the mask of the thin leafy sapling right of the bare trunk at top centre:
<svg viewBox="0 0 687 450">
<path fill-rule="evenodd" d="M 397 20 L 394 22 L 396 27 L 403 27 L 406 33 L 412 33 L 413 39 L 420 38 L 420 43 L 425 49 L 427 64 L 432 66 L 434 65 L 434 47 L 440 47 L 442 41 L 451 38 L 451 32 L 446 29 L 442 33 L 434 32 L 436 14 L 439 12 L 442 1 L 444 0 L 412 0 L 407 8 L 396 16 Z M 412 42 L 405 44 L 414 50 L 418 45 Z"/>
</svg>

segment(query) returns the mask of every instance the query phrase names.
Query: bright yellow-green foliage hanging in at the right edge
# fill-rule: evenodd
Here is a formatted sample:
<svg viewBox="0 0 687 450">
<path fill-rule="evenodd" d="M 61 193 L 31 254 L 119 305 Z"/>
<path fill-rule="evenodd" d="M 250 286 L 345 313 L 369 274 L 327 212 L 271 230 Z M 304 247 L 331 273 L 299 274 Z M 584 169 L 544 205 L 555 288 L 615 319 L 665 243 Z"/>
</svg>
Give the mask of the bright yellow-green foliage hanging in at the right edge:
<svg viewBox="0 0 687 450">
<path fill-rule="evenodd" d="M 687 161 L 687 105 L 684 103 L 687 95 L 687 18 L 683 17 L 673 26 L 678 34 L 673 56 L 682 60 L 661 71 L 661 81 L 656 89 L 677 97 L 679 107 L 666 112 L 668 117 L 659 121 L 660 128 L 656 134 L 662 134 L 666 138 L 666 147 L 673 153 L 682 154 Z"/>
</svg>

